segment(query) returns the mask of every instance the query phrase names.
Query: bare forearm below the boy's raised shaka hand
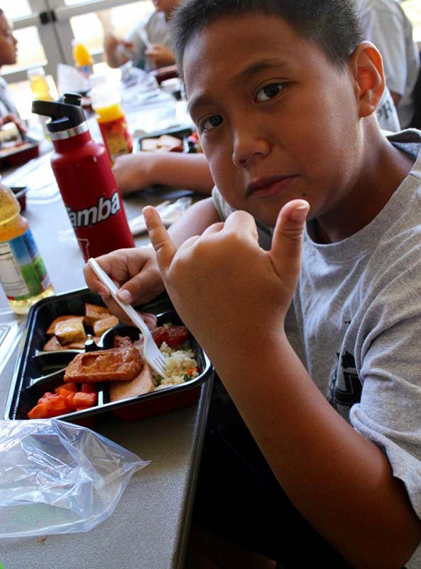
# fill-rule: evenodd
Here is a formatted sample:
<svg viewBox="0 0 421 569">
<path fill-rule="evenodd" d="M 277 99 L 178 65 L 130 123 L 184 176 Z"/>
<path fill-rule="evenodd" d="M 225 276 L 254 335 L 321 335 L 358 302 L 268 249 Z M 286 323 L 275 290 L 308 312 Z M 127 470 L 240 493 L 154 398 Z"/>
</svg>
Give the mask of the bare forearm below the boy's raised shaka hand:
<svg viewBox="0 0 421 569">
<path fill-rule="evenodd" d="M 284 335 L 254 336 L 247 352 L 245 334 L 229 357 L 207 352 L 280 485 L 353 566 L 403 567 L 421 522 L 386 455 L 327 403 Z"/>
</svg>

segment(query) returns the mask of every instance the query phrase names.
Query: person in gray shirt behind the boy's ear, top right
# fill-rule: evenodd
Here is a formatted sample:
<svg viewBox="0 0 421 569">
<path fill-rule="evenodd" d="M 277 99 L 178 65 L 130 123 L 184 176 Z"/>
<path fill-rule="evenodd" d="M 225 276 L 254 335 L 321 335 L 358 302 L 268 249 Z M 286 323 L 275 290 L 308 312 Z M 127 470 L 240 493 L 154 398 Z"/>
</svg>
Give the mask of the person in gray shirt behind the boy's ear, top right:
<svg viewBox="0 0 421 569">
<path fill-rule="evenodd" d="M 402 128 L 412 125 L 414 87 L 420 73 L 420 55 L 412 38 L 412 26 L 395 0 L 355 0 L 366 32 L 383 58 L 386 85 Z"/>
</svg>

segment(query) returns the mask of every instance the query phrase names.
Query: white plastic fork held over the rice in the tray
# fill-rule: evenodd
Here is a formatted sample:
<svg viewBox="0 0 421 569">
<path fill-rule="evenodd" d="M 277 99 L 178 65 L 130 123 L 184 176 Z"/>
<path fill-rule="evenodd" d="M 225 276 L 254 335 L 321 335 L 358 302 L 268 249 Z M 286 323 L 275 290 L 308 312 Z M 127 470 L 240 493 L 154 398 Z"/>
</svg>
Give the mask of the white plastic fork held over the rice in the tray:
<svg viewBox="0 0 421 569">
<path fill-rule="evenodd" d="M 124 304 L 121 302 L 119 297 L 117 297 L 118 289 L 110 277 L 106 274 L 104 270 L 98 265 L 97 261 L 94 259 L 88 260 L 89 267 L 92 268 L 95 275 L 99 280 L 109 289 L 111 297 L 114 298 L 119 307 L 126 312 L 127 316 L 131 319 L 133 324 L 136 324 L 138 329 L 141 330 L 143 334 L 143 356 L 148 362 L 148 364 L 153 368 L 160 376 L 165 376 L 165 356 L 159 351 L 158 346 L 155 344 L 155 340 L 151 334 L 151 331 L 146 326 L 145 322 L 141 319 L 136 310 L 129 304 Z"/>
</svg>

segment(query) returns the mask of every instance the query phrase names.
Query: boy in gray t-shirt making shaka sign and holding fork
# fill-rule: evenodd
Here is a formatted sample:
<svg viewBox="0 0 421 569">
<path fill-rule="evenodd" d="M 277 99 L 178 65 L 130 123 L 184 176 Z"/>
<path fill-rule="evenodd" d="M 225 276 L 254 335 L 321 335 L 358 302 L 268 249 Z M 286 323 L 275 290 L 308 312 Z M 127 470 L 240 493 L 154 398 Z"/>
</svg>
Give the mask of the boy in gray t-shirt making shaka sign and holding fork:
<svg viewBox="0 0 421 569">
<path fill-rule="evenodd" d="M 170 238 L 146 208 L 165 287 L 305 519 L 352 566 L 419 567 L 420 134 L 379 131 L 348 0 L 190 0 L 174 33 L 218 190 Z M 151 253 L 99 261 L 128 302 L 163 287 Z M 264 517 L 283 561 L 283 511 Z"/>
</svg>

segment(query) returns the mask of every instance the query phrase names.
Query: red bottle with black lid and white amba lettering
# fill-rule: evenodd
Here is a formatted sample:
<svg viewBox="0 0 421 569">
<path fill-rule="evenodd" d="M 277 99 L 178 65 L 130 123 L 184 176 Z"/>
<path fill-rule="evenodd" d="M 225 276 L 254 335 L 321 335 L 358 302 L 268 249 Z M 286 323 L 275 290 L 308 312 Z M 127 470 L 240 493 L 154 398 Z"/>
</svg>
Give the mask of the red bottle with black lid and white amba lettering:
<svg viewBox="0 0 421 569">
<path fill-rule="evenodd" d="M 89 134 L 81 98 L 66 93 L 58 101 L 33 101 L 32 112 L 51 117 L 47 123 L 55 149 L 51 167 L 87 261 L 134 247 L 134 241 L 108 153 Z"/>
</svg>

